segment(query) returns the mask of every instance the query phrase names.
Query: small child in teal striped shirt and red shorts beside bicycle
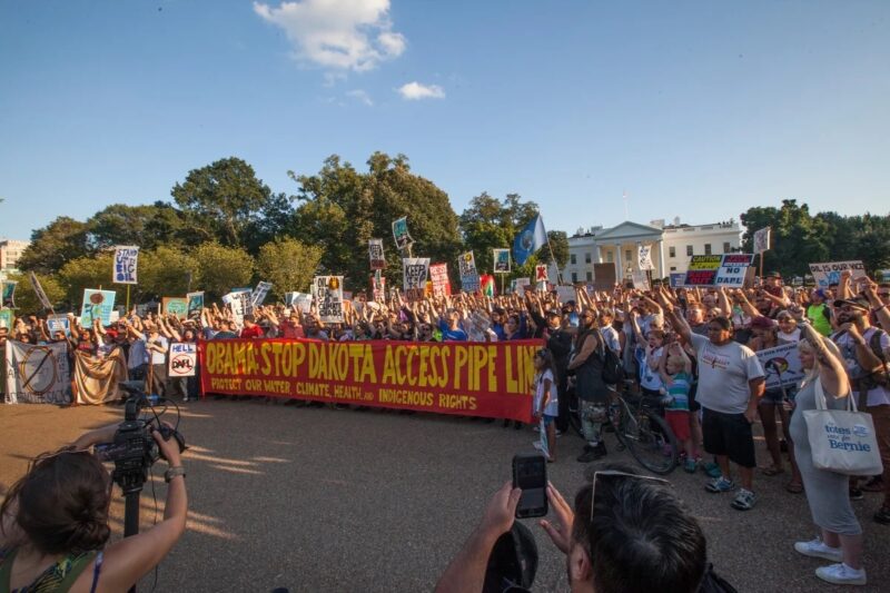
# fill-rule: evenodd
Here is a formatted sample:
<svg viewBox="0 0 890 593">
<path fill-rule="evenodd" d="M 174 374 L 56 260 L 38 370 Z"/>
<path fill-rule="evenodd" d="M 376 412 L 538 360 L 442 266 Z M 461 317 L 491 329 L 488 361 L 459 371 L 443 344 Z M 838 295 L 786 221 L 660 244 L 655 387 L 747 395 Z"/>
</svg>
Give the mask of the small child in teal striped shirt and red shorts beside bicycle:
<svg viewBox="0 0 890 593">
<path fill-rule="evenodd" d="M 659 375 L 664 383 L 664 393 L 671 398 L 664 411 L 664 419 L 683 445 L 686 454 L 683 470 L 694 474 L 700 459 L 690 427 L 689 392 L 692 386 L 692 360 L 679 343 L 674 342 L 668 346 L 668 353 L 659 360 Z"/>
</svg>

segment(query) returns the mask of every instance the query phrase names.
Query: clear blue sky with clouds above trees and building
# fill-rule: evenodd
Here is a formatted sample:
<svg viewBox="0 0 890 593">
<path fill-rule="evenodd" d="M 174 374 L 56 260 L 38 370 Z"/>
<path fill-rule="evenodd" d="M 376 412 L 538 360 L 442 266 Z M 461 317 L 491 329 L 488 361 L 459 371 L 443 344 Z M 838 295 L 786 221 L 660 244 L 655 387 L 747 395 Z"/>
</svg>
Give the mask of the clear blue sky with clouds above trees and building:
<svg viewBox="0 0 890 593">
<path fill-rule="evenodd" d="M 890 2 L 0 2 L 0 237 L 238 156 L 411 159 L 548 229 L 890 211 Z"/>
</svg>

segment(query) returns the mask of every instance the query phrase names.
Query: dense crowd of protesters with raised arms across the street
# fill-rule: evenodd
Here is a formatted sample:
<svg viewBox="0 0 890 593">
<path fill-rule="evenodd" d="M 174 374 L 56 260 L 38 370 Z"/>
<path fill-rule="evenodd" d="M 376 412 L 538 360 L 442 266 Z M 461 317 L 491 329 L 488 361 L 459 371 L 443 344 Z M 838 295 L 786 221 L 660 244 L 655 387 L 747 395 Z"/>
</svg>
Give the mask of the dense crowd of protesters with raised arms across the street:
<svg viewBox="0 0 890 593">
<path fill-rule="evenodd" d="M 785 473 L 785 490 L 805 492 L 820 538 L 795 548 L 807 555 L 841 561 L 820 569 L 820 577 L 835 583 L 864 582 L 861 566 L 861 526 L 850 501 L 864 492 L 883 495 L 874 515 L 890 524 L 890 285 L 841 275 L 824 289 L 782 285 L 778 274 L 758 288 L 651 289 L 617 286 L 612 291 L 578 288 L 562 302 L 556 291 L 524 291 L 497 297 L 459 293 L 406 300 L 394 291 L 385 302 L 358 294 L 344 302 L 343 323 L 323 323 L 316 308 L 257 306 L 236 316 L 228 306 L 212 305 L 199 316 L 130 312 L 103 327 L 81 327 L 69 315 L 70 335 L 50 333 L 36 316 L 0 328 L 19 342 L 67 342 L 70 352 L 108 356 L 125 353 L 130 378 L 145 379 L 152 392 L 198 397 L 198 378 L 167 376 L 171 342 L 227 338 L 307 338 L 319 340 L 502 342 L 538 338 L 534 358 L 533 417 L 542 433 L 538 448 L 556 461 L 556 437 L 567 431 L 568 396 L 577 411 L 587 463 L 607 454 L 603 429 L 609 405 L 623 384 L 603 379 L 606 354 L 621 360 L 633 387 L 657 397 L 664 416 L 682 446 L 682 466 L 703 471 L 708 492 L 735 492 L 731 506 L 755 506 L 756 458 L 752 425 L 760 422 L 769 452 L 762 475 Z M 756 352 L 798 344 L 807 373 L 802 386 L 765 388 L 765 369 Z M 832 405 L 856 397 L 871 414 L 883 475 L 848 478 L 813 467 L 805 427 L 798 409 L 813 407 L 814 382 L 821 382 Z M 624 383 L 624 382 L 622 382 Z M 840 402 L 840 403 L 839 403 Z M 777 424 L 779 421 L 781 428 Z M 504 425 L 508 423 L 505 421 Z M 521 428 L 520 423 L 515 423 Z M 788 463 L 783 456 L 787 453 Z M 731 465 L 736 466 L 739 483 Z M 841 487 L 842 486 L 842 487 Z"/>
</svg>

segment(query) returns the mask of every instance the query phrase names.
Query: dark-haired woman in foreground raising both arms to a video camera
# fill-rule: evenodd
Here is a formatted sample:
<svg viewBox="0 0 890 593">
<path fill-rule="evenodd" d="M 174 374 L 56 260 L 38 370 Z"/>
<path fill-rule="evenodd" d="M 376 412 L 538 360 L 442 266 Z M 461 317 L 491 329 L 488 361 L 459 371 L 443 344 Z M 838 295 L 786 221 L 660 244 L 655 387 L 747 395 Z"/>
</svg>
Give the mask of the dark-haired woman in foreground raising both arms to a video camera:
<svg viewBox="0 0 890 593">
<path fill-rule="evenodd" d="M 170 470 L 164 521 L 108 544 L 111 476 L 90 447 L 118 425 L 38 456 L 0 506 L 0 591 L 119 592 L 157 566 L 186 528 L 186 482 L 176 439 L 152 436 Z"/>
</svg>

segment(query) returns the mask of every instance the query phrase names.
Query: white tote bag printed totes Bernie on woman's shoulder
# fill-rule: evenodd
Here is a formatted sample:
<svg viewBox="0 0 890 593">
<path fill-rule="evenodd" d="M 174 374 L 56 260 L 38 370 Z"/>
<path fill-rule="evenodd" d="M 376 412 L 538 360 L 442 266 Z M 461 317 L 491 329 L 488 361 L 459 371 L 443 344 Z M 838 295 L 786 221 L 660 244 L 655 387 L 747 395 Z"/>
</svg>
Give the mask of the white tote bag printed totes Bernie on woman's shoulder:
<svg viewBox="0 0 890 593">
<path fill-rule="evenodd" d="M 813 465 L 851 476 L 883 473 L 871 414 L 858 412 L 853 396 L 847 409 L 828 409 L 822 382 L 815 379 L 815 408 L 803 412 Z"/>
</svg>

